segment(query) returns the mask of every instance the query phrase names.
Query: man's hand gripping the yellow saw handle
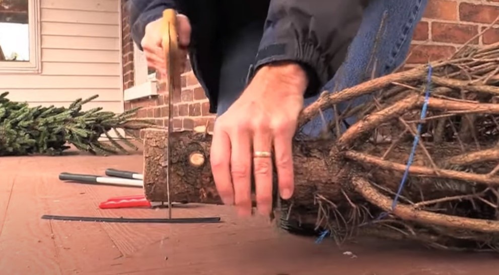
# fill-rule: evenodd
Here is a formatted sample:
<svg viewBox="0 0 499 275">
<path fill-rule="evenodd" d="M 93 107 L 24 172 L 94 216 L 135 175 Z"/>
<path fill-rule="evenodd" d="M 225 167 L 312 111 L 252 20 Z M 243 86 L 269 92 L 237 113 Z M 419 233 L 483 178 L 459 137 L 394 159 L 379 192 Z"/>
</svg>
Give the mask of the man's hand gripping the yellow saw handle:
<svg viewBox="0 0 499 275">
<path fill-rule="evenodd" d="M 155 68 L 163 77 L 166 76 L 166 56 L 161 45 L 163 39 L 161 27 L 162 20 L 163 19 L 160 18 L 146 26 L 146 33 L 144 38 L 142 38 L 140 45 L 146 54 L 148 67 Z M 185 15 L 177 15 L 177 33 L 179 50 L 182 53 L 181 71 L 183 71 L 185 68 L 185 61 L 187 59 L 187 47 L 190 44 L 191 36 L 191 25 L 189 19 Z"/>
</svg>

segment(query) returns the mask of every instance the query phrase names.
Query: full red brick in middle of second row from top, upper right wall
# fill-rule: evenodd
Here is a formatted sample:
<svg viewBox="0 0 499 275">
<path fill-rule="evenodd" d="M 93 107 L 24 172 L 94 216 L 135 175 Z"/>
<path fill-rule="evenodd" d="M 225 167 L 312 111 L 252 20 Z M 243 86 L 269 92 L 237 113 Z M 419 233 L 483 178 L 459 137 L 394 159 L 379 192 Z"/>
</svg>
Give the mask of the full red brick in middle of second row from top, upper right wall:
<svg viewBox="0 0 499 275">
<path fill-rule="evenodd" d="M 432 40 L 436 42 L 447 42 L 464 44 L 478 34 L 478 26 L 452 23 L 432 23 Z M 478 44 L 478 37 L 472 44 Z"/>
</svg>

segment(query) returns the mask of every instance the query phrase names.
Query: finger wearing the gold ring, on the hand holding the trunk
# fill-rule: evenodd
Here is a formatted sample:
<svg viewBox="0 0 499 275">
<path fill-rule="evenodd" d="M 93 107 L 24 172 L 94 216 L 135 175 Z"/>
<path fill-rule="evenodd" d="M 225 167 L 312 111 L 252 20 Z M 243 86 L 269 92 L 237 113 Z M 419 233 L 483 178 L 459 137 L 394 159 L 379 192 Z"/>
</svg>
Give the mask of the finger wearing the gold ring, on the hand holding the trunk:
<svg viewBox="0 0 499 275">
<path fill-rule="evenodd" d="M 266 215 L 272 208 L 272 135 L 265 124 L 259 125 L 253 135 L 253 173 L 258 211 Z"/>
</svg>

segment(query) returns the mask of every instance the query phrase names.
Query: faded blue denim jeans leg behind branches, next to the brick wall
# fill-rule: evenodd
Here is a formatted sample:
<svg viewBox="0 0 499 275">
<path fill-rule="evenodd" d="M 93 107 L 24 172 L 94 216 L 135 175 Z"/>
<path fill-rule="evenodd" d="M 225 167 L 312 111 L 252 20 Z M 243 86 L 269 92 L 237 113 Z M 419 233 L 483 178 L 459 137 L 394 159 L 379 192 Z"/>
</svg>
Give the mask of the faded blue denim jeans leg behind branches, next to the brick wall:
<svg viewBox="0 0 499 275">
<path fill-rule="evenodd" d="M 348 54 L 333 79 L 324 85 L 323 90 L 334 93 L 366 80 L 391 73 L 407 57 L 414 27 L 421 20 L 428 0 L 373 0 L 364 11 L 364 18 L 357 36 L 348 49 Z M 341 113 L 348 105 L 358 106 L 370 96 L 344 102 L 337 106 Z M 305 106 L 317 97 L 305 100 Z M 323 112 L 325 121 L 334 119 L 332 109 Z M 355 123 L 355 118 L 344 119 L 347 125 Z M 322 118 L 315 118 L 301 130 L 309 136 L 317 136 L 324 128 Z M 344 123 L 341 130 L 345 130 Z"/>
</svg>

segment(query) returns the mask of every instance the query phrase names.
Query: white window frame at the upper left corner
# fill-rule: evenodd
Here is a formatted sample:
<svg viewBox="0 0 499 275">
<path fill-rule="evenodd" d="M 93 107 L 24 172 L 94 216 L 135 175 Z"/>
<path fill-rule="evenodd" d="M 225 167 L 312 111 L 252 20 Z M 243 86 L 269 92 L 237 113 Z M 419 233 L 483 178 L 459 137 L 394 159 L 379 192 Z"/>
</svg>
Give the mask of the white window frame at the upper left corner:
<svg viewBox="0 0 499 275">
<path fill-rule="evenodd" d="M 0 73 L 40 73 L 40 0 L 28 0 L 28 29 L 30 60 L 26 62 L 0 61 Z"/>
</svg>

